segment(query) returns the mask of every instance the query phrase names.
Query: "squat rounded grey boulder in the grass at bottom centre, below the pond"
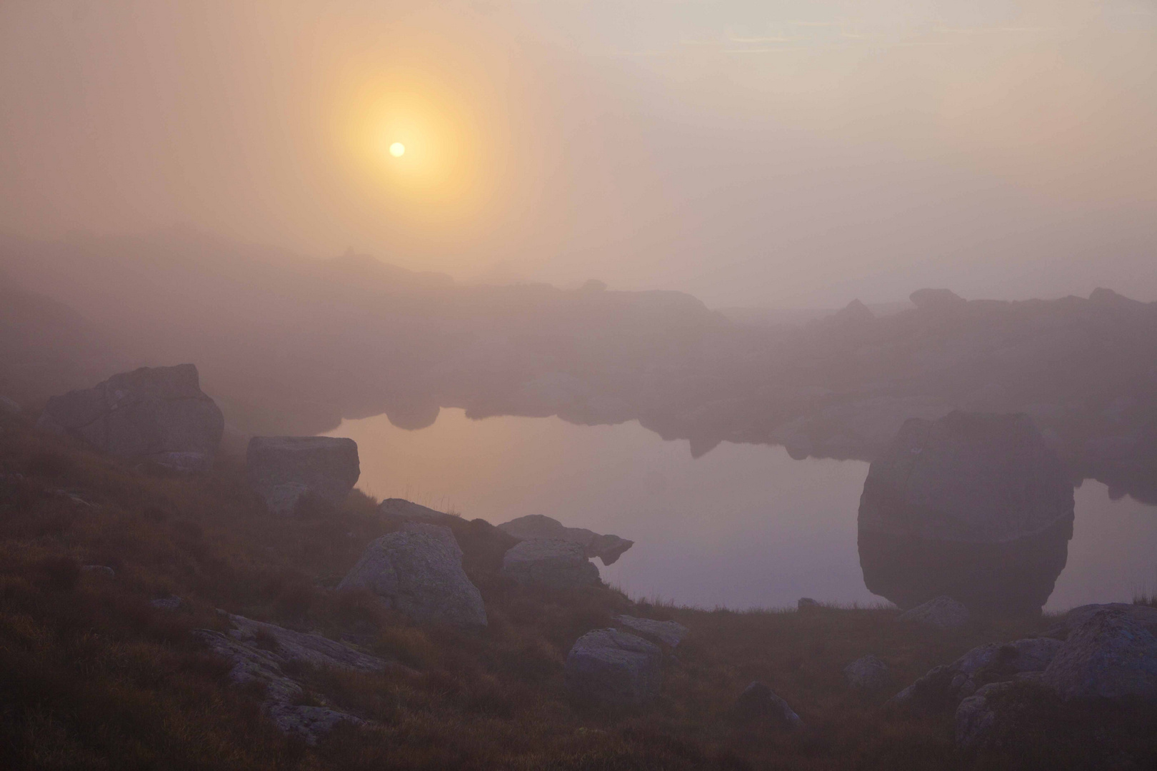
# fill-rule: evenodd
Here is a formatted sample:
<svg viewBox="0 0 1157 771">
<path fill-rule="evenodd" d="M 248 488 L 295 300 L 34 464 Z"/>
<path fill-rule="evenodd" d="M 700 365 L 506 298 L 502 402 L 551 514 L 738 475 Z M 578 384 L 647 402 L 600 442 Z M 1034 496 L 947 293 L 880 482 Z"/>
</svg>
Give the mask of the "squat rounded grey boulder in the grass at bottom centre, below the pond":
<svg viewBox="0 0 1157 771">
<path fill-rule="evenodd" d="M 658 695 L 662 660 L 659 647 L 641 637 L 596 629 L 567 654 L 567 689 L 582 702 L 639 706 Z"/>
</svg>

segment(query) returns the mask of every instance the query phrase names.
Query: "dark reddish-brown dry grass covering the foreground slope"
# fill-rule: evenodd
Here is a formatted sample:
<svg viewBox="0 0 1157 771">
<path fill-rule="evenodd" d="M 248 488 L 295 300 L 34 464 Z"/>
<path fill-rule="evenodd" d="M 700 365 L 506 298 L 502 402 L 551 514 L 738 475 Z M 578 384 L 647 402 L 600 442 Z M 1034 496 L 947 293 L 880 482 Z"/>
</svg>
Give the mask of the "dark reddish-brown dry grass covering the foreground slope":
<svg viewBox="0 0 1157 771">
<path fill-rule="evenodd" d="M 632 602 L 606 587 L 536 592 L 501 578 L 511 541 L 479 520 L 452 527 L 489 627 L 418 628 L 368 594 L 330 591 L 391 527 L 374 501 L 355 494 L 337 513 L 277 519 L 231 461 L 178 476 L 2 420 L 0 768 L 1078 769 L 1093 768 L 1082 765 L 1097 746 L 1089 732 L 1110 718 L 1129 736 L 1157 733 L 1135 712 L 1074 724 L 1029 692 L 1015 705 L 1022 749 L 964 755 L 951 716 L 884 700 L 931 666 L 1047 620 L 945 635 L 898 624 L 883 608 L 734 613 Z M 116 576 L 80 570 L 91 564 Z M 169 594 L 186 603 L 148 605 Z M 261 695 L 230 688 L 221 661 L 190 635 L 220 628 L 216 608 L 346 639 L 417 673 L 296 672 L 309 703 L 373 721 L 309 748 L 278 734 L 260 714 Z M 661 698 L 640 712 L 569 704 L 567 650 L 622 611 L 692 630 L 668 657 Z M 869 652 L 889 663 L 896 688 L 848 690 L 842 667 Z M 732 720 L 731 703 L 752 680 L 771 684 L 806 728 Z M 1134 755 L 1157 757 L 1144 741 Z"/>
</svg>

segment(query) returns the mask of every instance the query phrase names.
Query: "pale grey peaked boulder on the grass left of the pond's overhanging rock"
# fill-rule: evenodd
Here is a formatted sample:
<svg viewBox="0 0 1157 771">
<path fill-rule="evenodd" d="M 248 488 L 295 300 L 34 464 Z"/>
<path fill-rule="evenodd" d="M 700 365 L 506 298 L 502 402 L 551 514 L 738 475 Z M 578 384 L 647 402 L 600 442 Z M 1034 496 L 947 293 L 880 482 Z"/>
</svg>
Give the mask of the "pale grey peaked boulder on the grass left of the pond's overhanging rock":
<svg viewBox="0 0 1157 771">
<path fill-rule="evenodd" d="M 486 625 L 486 607 L 449 527 L 406 522 L 370 543 L 338 591 L 367 588 L 420 623 Z"/>
</svg>

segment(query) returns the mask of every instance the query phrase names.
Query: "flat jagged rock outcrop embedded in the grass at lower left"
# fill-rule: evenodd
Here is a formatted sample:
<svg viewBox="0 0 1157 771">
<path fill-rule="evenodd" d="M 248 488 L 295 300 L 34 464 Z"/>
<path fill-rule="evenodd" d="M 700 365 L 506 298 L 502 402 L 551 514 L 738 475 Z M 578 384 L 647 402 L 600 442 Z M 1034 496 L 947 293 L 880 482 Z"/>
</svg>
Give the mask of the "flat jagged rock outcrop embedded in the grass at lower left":
<svg viewBox="0 0 1157 771">
<path fill-rule="evenodd" d="M 242 616 L 229 616 L 229 620 L 234 629 L 227 635 L 208 629 L 199 629 L 194 633 L 205 640 L 211 651 L 233 665 L 229 680 L 235 684 L 257 683 L 264 687 L 263 707 L 278 728 L 315 744 L 338 722 L 364 722 L 361 718 L 329 707 L 297 704 L 304 689 L 282 667 L 300 662 L 314 667 L 381 672 L 390 666 L 389 662 L 320 635 L 295 632 Z"/>
</svg>

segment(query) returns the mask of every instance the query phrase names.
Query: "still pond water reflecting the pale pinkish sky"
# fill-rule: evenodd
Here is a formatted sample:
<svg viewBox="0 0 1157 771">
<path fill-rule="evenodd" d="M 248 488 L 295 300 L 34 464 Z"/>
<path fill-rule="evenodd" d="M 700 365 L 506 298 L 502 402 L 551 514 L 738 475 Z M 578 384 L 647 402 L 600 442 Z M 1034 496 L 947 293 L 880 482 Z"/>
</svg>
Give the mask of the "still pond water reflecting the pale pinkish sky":
<svg viewBox="0 0 1157 771">
<path fill-rule="evenodd" d="M 883 602 L 863 583 L 856 512 L 862 461 L 791 460 L 782 447 L 724 443 L 692 459 L 638 422 L 572 425 L 557 417 L 467 418 L 443 409 L 407 431 L 384 415 L 345 421 L 358 487 L 500 524 L 547 514 L 635 541 L 603 579 L 636 598 L 729 608 Z M 1157 591 L 1157 507 L 1076 490 L 1068 563 L 1046 610 L 1129 601 Z"/>
</svg>

